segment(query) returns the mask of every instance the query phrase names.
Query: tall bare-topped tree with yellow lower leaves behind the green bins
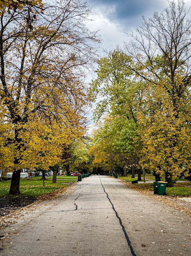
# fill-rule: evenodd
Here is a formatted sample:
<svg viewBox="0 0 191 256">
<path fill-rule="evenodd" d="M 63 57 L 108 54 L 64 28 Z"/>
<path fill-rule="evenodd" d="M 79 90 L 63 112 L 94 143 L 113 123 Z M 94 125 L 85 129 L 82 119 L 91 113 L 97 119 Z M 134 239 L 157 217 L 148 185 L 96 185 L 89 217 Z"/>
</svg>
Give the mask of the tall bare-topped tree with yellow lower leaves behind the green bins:
<svg viewBox="0 0 191 256">
<path fill-rule="evenodd" d="M 144 150 L 150 155 L 147 160 L 152 166 L 159 166 L 155 166 L 159 172 L 163 166 L 168 184 L 172 182 L 172 177 L 180 174 L 183 166 L 188 165 L 188 144 L 185 144 L 190 129 L 188 98 L 191 82 L 191 23 L 186 18 L 188 12 L 182 0 L 169 1 L 168 8 L 161 14 L 155 12 L 148 20 L 143 18 L 137 33 L 131 34 L 133 40 L 122 50 L 132 59 L 131 63 L 123 61 L 126 68 L 146 81 L 146 109 L 154 112 L 151 116 L 151 111 L 147 113 L 143 107 L 140 109 L 140 119 L 144 116 L 141 121 Z M 149 130 L 150 134 L 147 134 Z M 163 140 L 166 141 L 167 151 L 165 148 L 159 150 L 164 145 Z M 149 143 L 152 149 L 148 147 Z M 163 157 L 158 161 L 162 151 Z"/>
</svg>

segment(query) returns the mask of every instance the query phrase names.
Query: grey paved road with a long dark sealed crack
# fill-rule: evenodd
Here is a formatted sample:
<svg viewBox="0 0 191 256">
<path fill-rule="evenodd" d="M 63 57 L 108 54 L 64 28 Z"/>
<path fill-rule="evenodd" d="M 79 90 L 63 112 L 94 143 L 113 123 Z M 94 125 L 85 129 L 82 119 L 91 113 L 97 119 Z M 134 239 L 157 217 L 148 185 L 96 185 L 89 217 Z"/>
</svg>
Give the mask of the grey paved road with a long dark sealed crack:
<svg viewBox="0 0 191 256">
<path fill-rule="evenodd" d="M 107 176 L 84 178 L 9 226 L 0 256 L 190 256 L 184 213 Z"/>
</svg>

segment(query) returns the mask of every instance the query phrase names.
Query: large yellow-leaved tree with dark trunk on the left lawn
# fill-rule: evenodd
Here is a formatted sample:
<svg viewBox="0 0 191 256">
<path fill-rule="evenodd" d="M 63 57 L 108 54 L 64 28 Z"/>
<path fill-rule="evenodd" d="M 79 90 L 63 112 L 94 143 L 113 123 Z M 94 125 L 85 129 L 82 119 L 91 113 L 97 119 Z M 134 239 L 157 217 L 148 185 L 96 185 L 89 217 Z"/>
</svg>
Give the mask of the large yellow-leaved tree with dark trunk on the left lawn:
<svg viewBox="0 0 191 256">
<path fill-rule="evenodd" d="M 88 13 L 83 0 L 66 0 L 44 4 L 43 13 L 26 4 L 0 17 L 1 122 L 10 126 L 4 145 L 13 149 L 12 194 L 20 193 L 21 167 L 46 170 L 61 159 L 63 145 L 83 134 L 80 67 L 91 63 L 89 45 L 98 41 L 84 25 Z"/>
</svg>

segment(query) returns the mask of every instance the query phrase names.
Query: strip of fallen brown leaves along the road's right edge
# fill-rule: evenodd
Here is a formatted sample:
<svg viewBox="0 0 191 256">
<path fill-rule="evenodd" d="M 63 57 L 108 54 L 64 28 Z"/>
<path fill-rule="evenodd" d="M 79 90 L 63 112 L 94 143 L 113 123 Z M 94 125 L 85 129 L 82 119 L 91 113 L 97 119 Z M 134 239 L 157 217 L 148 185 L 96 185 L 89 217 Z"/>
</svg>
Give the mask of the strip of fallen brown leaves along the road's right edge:
<svg viewBox="0 0 191 256">
<path fill-rule="evenodd" d="M 132 188 L 135 190 L 140 191 L 142 194 L 154 198 L 157 201 L 161 201 L 165 205 L 171 206 L 177 210 L 183 211 L 186 213 L 188 216 L 191 216 L 191 204 L 183 201 L 183 200 L 177 200 L 178 197 L 170 197 L 170 196 L 159 196 L 159 195 L 154 195 L 153 191 L 151 190 L 145 190 L 141 186 L 136 186 L 136 184 L 131 184 L 131 182 L 124 182 L 128 188 Z"/>
</svg>

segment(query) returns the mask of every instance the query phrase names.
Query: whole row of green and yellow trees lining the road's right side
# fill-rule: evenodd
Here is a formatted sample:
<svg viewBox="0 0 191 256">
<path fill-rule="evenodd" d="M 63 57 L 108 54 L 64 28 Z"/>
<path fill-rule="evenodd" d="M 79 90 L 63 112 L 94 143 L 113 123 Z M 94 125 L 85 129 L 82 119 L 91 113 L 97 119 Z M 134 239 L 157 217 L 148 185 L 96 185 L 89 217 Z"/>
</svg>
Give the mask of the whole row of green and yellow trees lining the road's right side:
<svg viewBox="0 0 191 256">
<path fill-rule="evenodd" d="M 105 168 L 136 169 L 138 180 L 144 168 L 171 186 L 191 164 L 191 23 L 183 1 L 168 3 L 99 59 L 91 154 Z"/>
</svg>

